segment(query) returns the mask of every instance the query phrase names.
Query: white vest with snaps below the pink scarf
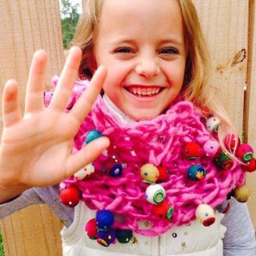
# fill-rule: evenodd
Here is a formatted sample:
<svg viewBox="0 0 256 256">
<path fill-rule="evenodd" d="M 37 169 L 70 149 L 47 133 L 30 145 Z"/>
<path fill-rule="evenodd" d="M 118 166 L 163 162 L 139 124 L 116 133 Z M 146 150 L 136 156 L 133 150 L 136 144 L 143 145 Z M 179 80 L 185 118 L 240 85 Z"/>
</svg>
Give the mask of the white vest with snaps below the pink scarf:
<svg viewBox="0 0 256 256">
<path fill-rule="evenodd" d="M 69 228 L 61 230 L 62 248 L 64 256 L 124 256 L 124 255 L 186 255 L 186 256 L 222 256 L 222 238 L 226 232 L 226 227 L 220 221 L 224 214 L 217 213 L 215 222 L 210 227 L 205 227 L 197 220 L 191 222 L 189 226 L 175 227 L 163 235 L 148 237 L 133 232 L 138 243 L 122 244 L 116 239 L 115 244 L 104 247 L 96 240 L 87 236 L 85 225 L 87 221 L 95 218 L 96 210 L 90 210 L 83 201 L 75 207 L 74 222 Z M 140 222 L 139 227 L 145 226 L 145 222 Z"/>
</svg>

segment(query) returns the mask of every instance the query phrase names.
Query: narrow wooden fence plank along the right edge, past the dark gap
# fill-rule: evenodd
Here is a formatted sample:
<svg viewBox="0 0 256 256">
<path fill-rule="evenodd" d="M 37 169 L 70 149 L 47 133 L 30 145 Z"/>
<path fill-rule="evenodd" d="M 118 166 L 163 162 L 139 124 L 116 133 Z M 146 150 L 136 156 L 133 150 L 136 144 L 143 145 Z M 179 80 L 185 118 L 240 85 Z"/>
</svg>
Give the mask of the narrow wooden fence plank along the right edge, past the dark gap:
<svg viewBox="0 0 256 256">
<path fill-rule="evenodd" d="M 245 93 L 244 131 L 245 141 L 256 150 L 256 12 L 255 0 L 250 1 L 249 20 L 249 45 L 248 45 L 248 70 L 247 89 Z M 256 154 L 256 152 L 254 153 Z M 248 201 L 254 228 L 256 229 L 256 172 L 248 173 L 246 186 L 251 190 L 251 198 Z"/>
</svg>

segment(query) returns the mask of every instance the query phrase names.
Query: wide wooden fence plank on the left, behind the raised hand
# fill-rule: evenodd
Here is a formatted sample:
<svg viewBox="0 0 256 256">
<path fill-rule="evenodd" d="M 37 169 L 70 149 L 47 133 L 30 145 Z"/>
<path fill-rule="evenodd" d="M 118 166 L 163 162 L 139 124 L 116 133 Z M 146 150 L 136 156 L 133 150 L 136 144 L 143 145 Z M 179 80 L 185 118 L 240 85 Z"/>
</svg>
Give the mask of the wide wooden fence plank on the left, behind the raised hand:
<svg viewBox="0 0 256 256">
<path fill-rule="evenodd" d="M 51 87 L 51 77 L 60 74 L 63 66 L 59 5 L 51 0 L 3 0 L 0 12 L 0 96 L 7 79 L 17 79 L 23 111 L 34 52 L 44 49 L 48 53 L 45 89 Z M 2 131 L 2 116 L 0 122 Z M 5 255 L 62 255 L 60 229 L 59 220 L 45 205 L 14 213 L 1 221 Z"/>
</svg>

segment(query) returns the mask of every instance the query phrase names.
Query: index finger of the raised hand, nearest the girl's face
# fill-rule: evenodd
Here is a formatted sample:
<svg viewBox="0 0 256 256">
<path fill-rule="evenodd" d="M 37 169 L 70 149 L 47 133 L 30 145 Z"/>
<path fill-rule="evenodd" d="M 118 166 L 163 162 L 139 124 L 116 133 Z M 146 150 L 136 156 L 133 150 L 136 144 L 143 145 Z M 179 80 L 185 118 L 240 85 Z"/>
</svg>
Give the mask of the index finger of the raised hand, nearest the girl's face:
<svg viewBox="0 0 256 256">
<path fill-rule="evenodd" d="M 101 91 L 106 76 L 107 69 L 103 66 L 100 66 L 94 73 L 89 87 L 85 90 L 85 92 L 81 95 L 73 108 L 70 110 L 70 114 L 73 114 L 78 119 L 79 123 L 82 123 L 84 118 L 91 110 L 94 101 L 97 99 L 97 96 Z"/>
</svg>

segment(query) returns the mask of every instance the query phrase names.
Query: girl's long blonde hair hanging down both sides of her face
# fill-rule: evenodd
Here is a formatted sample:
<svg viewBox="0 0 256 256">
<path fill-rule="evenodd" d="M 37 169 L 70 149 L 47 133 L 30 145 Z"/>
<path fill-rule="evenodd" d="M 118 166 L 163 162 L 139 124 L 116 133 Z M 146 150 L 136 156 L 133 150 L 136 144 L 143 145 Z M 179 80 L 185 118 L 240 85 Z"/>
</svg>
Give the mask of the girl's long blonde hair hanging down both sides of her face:
<svg viewBox="0 0 256 256">
<path fill-rule="evenodd" d="M 76 33 L 70 44 L 70 47 L 77 45 L 81 48 L 83 54 L 78 75 L 84 75 L 87 78 L 91 78 L 92 76 L 87 60 L 93 56 L 93 42 L 97 35 L 103 1 L 85 0 L 83 2 L 85 5 L 83 6 L 84 11 L 78 20 Z M 198 110 L 201 111 L 202 116 L 205 115 L 204 109 L 208 108 L 214 116 L 220 118 L 221 123 L 218 128 L 220 146 L 233 160 L 242 163 L 230 150 L 230 140 L 228 142 L 228 148 L 225 146 L 224 140 L 227 135 L 234 134 L 236 150 L 238 136 L 234 125 L 231 123 L 225 108 L 215 95 L 214 87 L 212 86 L 213 68 L 208 50 L 209 47 L 202 33 L 195 6 L 191 0 L 176 1 L 182 13 L 185 45 L 188 49 L 184 82 L 180 94 L 185 100 L 193 102 L 198 107 Z"/>
</svg>

